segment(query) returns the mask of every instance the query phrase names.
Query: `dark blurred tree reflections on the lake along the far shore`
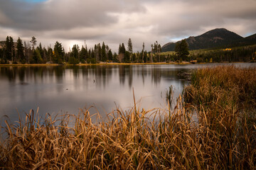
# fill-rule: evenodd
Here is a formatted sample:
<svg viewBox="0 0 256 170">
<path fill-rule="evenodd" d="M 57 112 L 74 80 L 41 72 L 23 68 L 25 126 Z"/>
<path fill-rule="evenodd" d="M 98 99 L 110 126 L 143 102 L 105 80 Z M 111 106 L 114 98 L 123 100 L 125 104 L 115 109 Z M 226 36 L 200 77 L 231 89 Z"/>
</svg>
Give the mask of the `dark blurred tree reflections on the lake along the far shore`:
<svg viewBox="0 0 256 170">
<path fill-rule="evenodd" d="M 117 76 L 117 71 L 119 75 Z M 186 71 L 186 69 L 184 70 Z M 93 81 L 97 87 L 104 89 L 110 84 L 112 77 L 119 78 L 120 86 L 124 86 L 127 82 L 129 89 L 133 85 L 133 77 L 142 79 L 145 85 L 145 79 L 151 78 L 151 83 L 157 86 L 161 82 L 161 77 L 167 79 L 184 79 L 178 75 L 182 69 L 161 69 L 154 66 L 133 66 L 133 65 L 100 65 L 100 66 L 58 66 L 58 67 L 0 67 L 0 78 L 8 79 L 10 83 L 18 83 L 21 85 L 28 82 L 33 84 L 42 84 L 46 81 L 53 81 L 56 84 L 63 84 L 63 80 L 85 79 Z M 68 74 L 68 76 L 66 76 Z M 114 75 L 113 75 L 114 74 Z M 18 77 L 18 79 L 17 79 Z M 77 86 L 79 87 L 79 86 Z"/>
</svg>

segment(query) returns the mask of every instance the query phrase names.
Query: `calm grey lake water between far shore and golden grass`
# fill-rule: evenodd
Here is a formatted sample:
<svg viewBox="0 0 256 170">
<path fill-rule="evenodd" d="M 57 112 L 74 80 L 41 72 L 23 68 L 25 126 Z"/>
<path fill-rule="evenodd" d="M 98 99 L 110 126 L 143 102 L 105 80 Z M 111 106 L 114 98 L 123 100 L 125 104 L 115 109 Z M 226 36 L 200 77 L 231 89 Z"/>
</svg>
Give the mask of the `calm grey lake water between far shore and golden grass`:
<svg viewBox="0 0 256 170">
<path fill-rule="evenodd" d="M 133 106 L 133 89 L 141 108 L 166 107 L 166 91 L 174 98 L 189 84 L 183 73 L 218 64 L 98 65 L 55 67 L 0 67 L 0 118 L 18 120 L 31 109 L 45 115 L 77 114 L 95 106 L 104 118 L 116 106 Z M 256 64 L 235 64 L 256 67 Z M 96 113 L 95 109 L 90 110 Z M 0 125 L 1 125 L 0 124 Z"/>
</svg>

